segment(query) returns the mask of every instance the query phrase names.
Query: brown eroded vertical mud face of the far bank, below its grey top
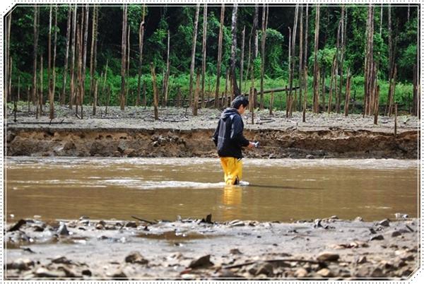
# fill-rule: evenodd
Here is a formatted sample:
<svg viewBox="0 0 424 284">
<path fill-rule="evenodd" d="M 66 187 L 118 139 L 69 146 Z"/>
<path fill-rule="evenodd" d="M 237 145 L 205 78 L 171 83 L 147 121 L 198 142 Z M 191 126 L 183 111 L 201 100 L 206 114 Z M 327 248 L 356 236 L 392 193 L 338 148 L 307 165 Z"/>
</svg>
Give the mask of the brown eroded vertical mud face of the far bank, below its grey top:
<svg viewBox="0 0 424 284">
<path fill-rule="evenodd" d="M 216 157 L 213 129 L 8 127 L 6 155 Z M 417 158 L 418 132 L 246 129 L 260 141 L 247 158 Z"/>
</svg>

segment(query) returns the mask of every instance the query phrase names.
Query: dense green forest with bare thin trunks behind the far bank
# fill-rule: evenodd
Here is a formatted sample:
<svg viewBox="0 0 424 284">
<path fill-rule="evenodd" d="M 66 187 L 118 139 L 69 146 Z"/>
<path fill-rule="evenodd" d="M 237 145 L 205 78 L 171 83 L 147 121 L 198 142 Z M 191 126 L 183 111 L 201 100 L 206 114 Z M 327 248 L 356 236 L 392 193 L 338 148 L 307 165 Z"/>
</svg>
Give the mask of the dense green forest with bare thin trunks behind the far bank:
<svg viewBox="0 0 424 284">
<path fill-rule="evenodd" d="M 54 103 L 417 114 L 417 5 L 16 6 L 5 94 Z M 199 103 L 194 103 L 199 102 Z M 22 104 L 23 105 L 23 104 Z M 352 107 L 355 105 L 355 107 Z M 80 109 L 80 110 L 81 110 Z M 81 112 L 82 113 L 82 112 Z"/>
</svg>

